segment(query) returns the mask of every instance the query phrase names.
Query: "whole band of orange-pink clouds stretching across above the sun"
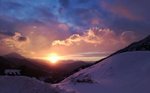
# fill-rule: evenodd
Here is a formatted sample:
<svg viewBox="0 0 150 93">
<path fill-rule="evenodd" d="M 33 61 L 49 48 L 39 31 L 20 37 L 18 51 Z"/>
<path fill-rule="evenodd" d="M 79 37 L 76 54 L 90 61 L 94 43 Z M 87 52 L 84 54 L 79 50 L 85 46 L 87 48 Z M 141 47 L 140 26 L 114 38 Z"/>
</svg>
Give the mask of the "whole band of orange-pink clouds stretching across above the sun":
<svg viewBox="0 0 150 93">
<path fill-rule="evenodd" d="M 63 56 L 89 52 L 94 56 L 95 52 L 109 54 L 136 40 L 132 31 L 118 35 L 113 30 L 99 28 L 91 28 L 80 34 L 70 35 L 69 31 L 64 31 L 63 34 L 68 38 L 60 37 L 55 29 L 25 27 L 22 33 L 16 32 L 13 36 L 0 35 L 0 51 L 5 54 L 17 52 L 27 57 L 44 57 L 51 52 Z"/>
</svg>

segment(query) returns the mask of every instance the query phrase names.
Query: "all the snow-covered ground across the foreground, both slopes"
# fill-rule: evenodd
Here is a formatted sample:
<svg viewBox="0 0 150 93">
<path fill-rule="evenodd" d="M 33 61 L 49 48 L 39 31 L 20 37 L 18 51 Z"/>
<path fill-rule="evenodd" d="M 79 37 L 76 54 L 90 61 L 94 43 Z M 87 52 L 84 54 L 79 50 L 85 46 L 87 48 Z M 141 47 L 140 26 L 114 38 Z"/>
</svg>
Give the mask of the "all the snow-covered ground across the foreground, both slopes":
<svg viewBox="0 0 150 93">
<path fill-rule="evenodd" d="M 59 84 L 24 76 L 0 76 L 0 93 L 149 93 L 150 52 L 114 55 Z"/>
</svg>

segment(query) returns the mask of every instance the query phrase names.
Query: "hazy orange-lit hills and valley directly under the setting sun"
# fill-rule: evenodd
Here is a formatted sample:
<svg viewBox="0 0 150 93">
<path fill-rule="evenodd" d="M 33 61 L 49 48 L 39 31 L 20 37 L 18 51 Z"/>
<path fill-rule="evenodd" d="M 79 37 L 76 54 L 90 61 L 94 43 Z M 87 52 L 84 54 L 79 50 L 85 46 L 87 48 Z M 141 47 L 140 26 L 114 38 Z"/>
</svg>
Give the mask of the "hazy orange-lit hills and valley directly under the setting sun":
<svg viewBox="0 0 150 93">
<path fill-rule="evenodd" d="M 87 66 L 92 63 L 84 62 L 84 61 L 73 61 L 73 60 L 61 60 L 58 62 L 58 64 L 53 65 L 50 64 L 49 61 L 43 61 L 43 60 L 33 60 L 30 59 L 30 61 L 35 61 L 38 64 L 47 66 L 50 71 L 50 78 L 46 79 L 45 82 L 50 83 L 58 83 L 62 80 L 64 80 L 66 77 L 72 75 L 76 72 L 76 69 L 79 69 L 82 66 Z"/>
</svg>

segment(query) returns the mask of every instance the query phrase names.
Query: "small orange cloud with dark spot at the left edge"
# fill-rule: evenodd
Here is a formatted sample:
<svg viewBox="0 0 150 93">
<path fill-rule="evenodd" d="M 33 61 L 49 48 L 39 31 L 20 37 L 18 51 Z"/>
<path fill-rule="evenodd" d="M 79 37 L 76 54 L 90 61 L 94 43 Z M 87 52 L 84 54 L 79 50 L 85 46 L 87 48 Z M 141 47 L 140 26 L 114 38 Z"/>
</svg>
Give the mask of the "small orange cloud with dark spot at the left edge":
<svg viewBox="0 0 150 93">
<path fill-rule="evenodd" d="M 2 36 L 2 35 L 1 35 Z M 9 52 L 18 52 L 24 54 L 28 51 L 27 48 L 30 44 L 30 40 L 27 37 L 22 36 L 21 33 L 16 32 L 13 36 L 6 36 L 0 40 L 3 51 L 10 50 Z"/>
</svg>

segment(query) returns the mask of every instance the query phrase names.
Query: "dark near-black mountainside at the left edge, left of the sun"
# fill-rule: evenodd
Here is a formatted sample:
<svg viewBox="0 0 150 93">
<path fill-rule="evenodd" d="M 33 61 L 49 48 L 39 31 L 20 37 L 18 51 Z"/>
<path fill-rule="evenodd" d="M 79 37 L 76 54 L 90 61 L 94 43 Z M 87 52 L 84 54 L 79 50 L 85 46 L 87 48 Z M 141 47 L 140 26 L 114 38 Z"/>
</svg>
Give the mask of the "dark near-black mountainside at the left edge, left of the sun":
<svg viewBox="0 0 150 93">
<path fill-rule="evenodd" d="M 19 70 L 20 75 L 36 78 L 50 75 L 50 70 L 47 67 L 31 62 L 19 54 L 14 55 L 15 57 L 10 55 L 12 54 L 0 56 L 0 75 L 6 75 L 7 70 Z"/>
</svg>

